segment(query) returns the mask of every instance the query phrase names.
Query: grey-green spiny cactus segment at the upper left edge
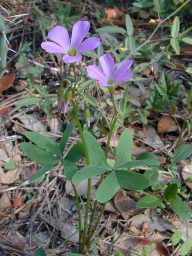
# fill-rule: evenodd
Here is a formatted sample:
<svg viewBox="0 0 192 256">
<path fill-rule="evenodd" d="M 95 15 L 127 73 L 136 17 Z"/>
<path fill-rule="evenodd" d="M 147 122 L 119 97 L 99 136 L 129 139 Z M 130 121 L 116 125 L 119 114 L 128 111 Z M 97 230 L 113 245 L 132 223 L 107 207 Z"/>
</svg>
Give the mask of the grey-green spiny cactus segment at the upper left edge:
<svg viewBox="0 0 192 256">
<path fill-rule="evenodd" d="M 2 14 L 0 13 L 0 78 L 4 74 L 4 68 L 6 67 L 8 51 L 7 42 L 5 37 L 2 35 L 2 31 L 5 32 L 5 22 Z"/>
</svg>

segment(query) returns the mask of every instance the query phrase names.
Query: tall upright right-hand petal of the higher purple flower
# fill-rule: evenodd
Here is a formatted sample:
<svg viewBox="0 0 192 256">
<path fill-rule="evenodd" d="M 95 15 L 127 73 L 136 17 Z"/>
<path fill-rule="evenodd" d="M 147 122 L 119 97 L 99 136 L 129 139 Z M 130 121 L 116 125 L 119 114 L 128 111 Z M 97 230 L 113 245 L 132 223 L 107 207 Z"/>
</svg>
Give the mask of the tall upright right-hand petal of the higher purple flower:
<svg viewBox="0 0 192 256">
<path fill-rule="evenodd" d="M 90 22 L 78 21 L 74 24 L 71 36 L 71 48 L 78 49 L 80 42 L 86 36 L 90 28 Z"/>
</svg>

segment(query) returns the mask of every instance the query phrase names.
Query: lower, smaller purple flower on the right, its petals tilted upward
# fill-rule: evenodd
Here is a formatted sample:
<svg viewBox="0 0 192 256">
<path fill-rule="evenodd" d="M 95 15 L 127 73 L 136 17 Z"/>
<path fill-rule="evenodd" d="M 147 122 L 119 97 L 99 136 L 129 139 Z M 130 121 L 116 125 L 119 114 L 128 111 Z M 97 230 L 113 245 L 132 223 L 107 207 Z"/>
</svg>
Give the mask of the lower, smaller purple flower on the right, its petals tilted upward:
<svg viewBox="0 0 192 256">
<path fill-rule="evenodd" d="M 87 74 L 90 78 L 98 80 L 102 86 L 114 86 L 119 82 L 127 81 L 133 77 L 132 72 L 126 72 L 132 65 L 132 60 L 123 60 L 114 72 L 114 60 L 110 54 L 104 54 L 99 58 L 103 72 L 98 66 L 90 65 L 87 67 Z"/>
</svg>

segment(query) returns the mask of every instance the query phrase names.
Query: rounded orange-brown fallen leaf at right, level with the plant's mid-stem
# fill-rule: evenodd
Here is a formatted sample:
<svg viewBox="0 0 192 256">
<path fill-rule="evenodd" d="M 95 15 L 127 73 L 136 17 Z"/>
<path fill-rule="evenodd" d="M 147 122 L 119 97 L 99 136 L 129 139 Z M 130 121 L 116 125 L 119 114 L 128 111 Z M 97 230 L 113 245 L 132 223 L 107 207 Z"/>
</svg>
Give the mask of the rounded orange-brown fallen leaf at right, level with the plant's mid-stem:
<svg viewBox="0 0 192 256">
<path fill-rule="evenodd" d="M 175 132 L 178 130 L 176 122 L 171 116 L 162 116 L 158 122 L 158 133 Z"/>
</svg>

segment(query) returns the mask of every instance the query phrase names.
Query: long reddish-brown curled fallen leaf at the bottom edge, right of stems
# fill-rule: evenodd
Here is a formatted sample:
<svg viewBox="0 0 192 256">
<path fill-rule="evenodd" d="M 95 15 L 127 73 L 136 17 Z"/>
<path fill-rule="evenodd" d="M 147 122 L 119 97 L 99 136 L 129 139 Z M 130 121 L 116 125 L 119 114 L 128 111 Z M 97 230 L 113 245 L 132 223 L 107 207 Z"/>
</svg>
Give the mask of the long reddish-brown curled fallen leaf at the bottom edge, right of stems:
<svg viewBox="0 0 192 256">
<path fill-rule="evenodd" d="M 122 241 L 122 238 L 120 238 L 120 240 L 118 241 L 118 244 L 120 244 L 123 247 L 133 248 L 138 250 L 144 249 L 146 245 L 150 246 L 152 243 L 156 244 L 156 248 L 154 249 L 154 251 L 158 252 L 160 255 L 169 256 L 168 249 L 164 245 L 162 245 L 160 242 L 154 239 L 134 237 L 134 238 L 126 238 L 123 241 Z"/>
</svg>

